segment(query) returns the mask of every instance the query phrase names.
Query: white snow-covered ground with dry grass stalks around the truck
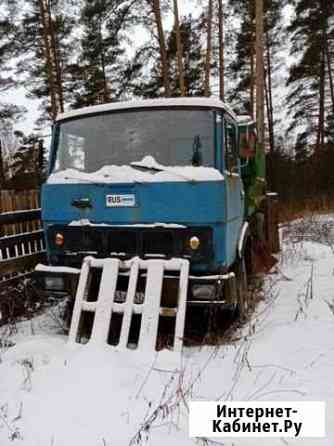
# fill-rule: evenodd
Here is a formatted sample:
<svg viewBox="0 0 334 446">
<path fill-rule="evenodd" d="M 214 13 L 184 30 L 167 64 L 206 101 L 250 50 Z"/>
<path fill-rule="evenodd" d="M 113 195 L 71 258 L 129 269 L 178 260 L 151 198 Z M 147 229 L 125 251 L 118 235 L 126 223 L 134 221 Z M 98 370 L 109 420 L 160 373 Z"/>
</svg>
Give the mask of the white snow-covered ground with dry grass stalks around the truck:
<svg viewBox="0 0 334 446">
<path fill-rule="evenodd" d="M 0 445 L 211 444 L 188 437 L 194 399 L 326 401 L 326 438 L 219 444 L 333 446 L 333 227 L 321 217 L 285 230 L 266 298 L 228 345 L 142 356 L 70 348 L 54 314 L 19 324 L 0 354 Z"/>
</svg>

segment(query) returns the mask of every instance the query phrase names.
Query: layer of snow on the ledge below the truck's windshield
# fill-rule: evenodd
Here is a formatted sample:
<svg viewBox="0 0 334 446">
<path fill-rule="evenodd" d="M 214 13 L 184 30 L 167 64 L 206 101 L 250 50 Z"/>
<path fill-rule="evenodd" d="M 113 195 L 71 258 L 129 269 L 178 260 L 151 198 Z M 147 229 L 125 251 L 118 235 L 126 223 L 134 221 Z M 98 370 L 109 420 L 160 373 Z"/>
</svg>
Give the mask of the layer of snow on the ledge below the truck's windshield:
<svg viewBox="0 0 334 446">
<path fill-rule="evenodd" d="M 223 175 L 213 167 L 163 166 L 151 156 L 131 163 L 131 166 L 104 166 L 96 172 L 86 173 L 66 169 L 51 174 L 48 184 L 65 183 L 163 183 L 188 181 L 223 181 Z M 138 170 L 147 169 L 147 170 Z"/>
</svg>

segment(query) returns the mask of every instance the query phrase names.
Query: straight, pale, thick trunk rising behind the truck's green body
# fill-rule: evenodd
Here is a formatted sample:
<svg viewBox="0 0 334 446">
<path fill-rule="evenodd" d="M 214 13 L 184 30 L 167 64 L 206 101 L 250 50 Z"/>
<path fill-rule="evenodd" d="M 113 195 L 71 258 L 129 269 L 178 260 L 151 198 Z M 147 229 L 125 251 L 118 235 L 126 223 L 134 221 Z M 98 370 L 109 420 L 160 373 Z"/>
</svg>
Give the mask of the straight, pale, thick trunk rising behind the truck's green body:
<svg viewBox="0 0 334 446">
<path fill-rule="evenodd" d="M 263 0 L 256 0 L 256 121 L 258 143 L 264 144 Z"/>
</svg>

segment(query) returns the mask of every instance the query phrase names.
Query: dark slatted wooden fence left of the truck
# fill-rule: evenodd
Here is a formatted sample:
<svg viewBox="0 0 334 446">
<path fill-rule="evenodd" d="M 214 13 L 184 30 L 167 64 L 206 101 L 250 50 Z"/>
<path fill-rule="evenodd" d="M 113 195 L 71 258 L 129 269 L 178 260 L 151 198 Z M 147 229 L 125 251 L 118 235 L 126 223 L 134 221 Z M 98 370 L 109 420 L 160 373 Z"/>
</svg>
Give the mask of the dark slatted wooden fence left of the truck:
<svg viewBox="0 0 334 446">
<path fill-rule="evenodd" d="M 0 287 L 26 277 L 45 261 L 39 192 L 0 194 Z"/>
</svg>

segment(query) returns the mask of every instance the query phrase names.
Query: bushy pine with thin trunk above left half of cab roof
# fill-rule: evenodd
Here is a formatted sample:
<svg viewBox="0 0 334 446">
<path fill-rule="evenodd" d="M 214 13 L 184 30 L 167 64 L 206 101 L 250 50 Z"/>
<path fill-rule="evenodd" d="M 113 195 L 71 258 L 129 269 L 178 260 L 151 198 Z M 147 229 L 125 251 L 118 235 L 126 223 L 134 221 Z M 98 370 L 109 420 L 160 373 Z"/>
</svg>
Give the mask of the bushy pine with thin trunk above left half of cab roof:
<svg viewBox="0 0 334 446">
<path fill-rule="evenodd" d="M 131 6 L 124 0 L 84 0 L 79 55 L 69 67 L 73 107 L 110 102 L 123 93 L 123 30 L 132 20 Z"/>
</svg>

